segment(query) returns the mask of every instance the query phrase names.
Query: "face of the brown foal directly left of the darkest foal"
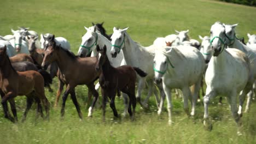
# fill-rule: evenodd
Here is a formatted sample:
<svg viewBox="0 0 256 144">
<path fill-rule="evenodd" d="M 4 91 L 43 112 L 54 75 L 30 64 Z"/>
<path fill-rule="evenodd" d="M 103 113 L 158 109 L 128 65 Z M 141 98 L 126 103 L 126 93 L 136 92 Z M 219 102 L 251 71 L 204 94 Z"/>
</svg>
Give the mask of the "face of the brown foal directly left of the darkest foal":
<svg viewBox="0 0 256 144">
<path fill-rule="evenodd" d="M 42 68 L 46 69 L 49 64 L 52 62 L 56 61 L 57 59 L 57 47 L 56 44 L 54 43 L 49 43 L 48 47 L 46 47 L 44 51 L 44 59 L 42 62 Z"/>
</svg>

